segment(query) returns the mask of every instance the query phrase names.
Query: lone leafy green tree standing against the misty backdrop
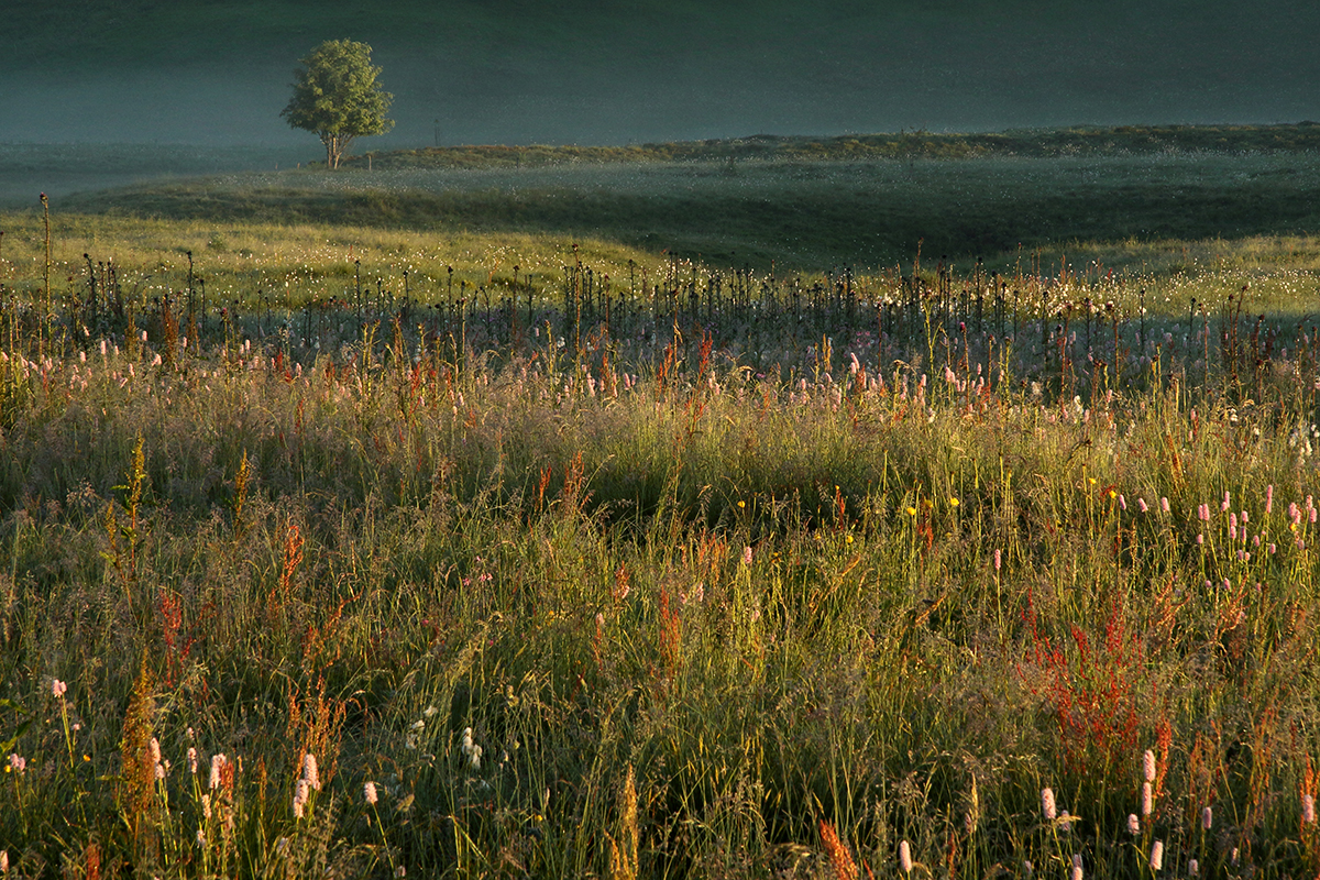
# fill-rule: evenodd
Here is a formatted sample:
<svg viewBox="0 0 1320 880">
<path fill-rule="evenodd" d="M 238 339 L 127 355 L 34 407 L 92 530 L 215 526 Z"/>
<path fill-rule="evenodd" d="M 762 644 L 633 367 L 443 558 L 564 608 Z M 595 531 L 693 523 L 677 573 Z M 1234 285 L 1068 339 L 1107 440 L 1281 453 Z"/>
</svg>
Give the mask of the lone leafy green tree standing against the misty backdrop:
<svg viewBox="0 0 1320 880">
<path fill-rule="evenodd" d="M 376 83 L 371 46 L 351 40 L 327 40 L 312 50 L 293 73 L 293 98 L 280 115 L 289 125 L 315 132 L 326 145 L 326 166 L 339 158 L 355 137 L 384 135 L 395 127 L 385 119 L 393 95 Z"/>
</svg>

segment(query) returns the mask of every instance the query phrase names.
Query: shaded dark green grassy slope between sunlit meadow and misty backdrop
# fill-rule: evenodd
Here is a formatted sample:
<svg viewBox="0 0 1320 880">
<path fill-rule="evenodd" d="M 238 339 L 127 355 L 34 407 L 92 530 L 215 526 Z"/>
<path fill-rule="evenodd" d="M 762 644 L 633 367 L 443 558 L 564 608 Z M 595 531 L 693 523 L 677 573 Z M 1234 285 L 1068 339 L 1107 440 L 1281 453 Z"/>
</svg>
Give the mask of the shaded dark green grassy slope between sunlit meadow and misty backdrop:
<svg viewBox="0 0 1320 880">
<path fill-rule="evenodd" d="M 923 240 L 931 257 L 990 260 L 1019 244 L 1307 234 L 1320 228 L 1316 204 L 1320 168 L 1284 153 L 263 174 L 120 190 L 62 210 L 589 235 L 717 265 L 817 270 L 892 265 Z"/>
</svg>

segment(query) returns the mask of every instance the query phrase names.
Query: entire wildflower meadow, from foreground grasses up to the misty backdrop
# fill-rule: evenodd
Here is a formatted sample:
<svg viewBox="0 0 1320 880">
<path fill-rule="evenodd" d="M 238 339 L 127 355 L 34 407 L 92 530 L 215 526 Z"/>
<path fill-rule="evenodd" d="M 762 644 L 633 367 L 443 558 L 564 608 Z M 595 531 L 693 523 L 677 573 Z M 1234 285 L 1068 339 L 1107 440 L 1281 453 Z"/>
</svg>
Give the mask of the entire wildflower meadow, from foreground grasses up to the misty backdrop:
<svg viewBox="0 0 1320 880">
<path fill-rule="evenodd" d="M 727 165 L 0 215 L 5 876 L 1320 871 L 1313 158 Z"/>
</svg>

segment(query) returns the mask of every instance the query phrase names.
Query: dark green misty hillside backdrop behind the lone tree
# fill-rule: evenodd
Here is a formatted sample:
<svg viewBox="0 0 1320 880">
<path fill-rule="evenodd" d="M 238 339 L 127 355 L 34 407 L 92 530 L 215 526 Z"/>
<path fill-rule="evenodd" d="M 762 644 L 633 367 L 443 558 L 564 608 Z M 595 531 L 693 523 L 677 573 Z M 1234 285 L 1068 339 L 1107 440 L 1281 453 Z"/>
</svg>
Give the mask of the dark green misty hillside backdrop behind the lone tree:
<svg viewBox="0 0 1320 880">
<path fill-rule="evenodd" d="M 279 112 L 297 59 L 345 37 L 396 96 L 359 149 L 1320 117 L 1313 1 L 4 5 L 0 142 L 319 158 Z"/>
</svg>

